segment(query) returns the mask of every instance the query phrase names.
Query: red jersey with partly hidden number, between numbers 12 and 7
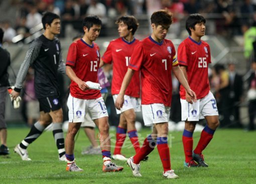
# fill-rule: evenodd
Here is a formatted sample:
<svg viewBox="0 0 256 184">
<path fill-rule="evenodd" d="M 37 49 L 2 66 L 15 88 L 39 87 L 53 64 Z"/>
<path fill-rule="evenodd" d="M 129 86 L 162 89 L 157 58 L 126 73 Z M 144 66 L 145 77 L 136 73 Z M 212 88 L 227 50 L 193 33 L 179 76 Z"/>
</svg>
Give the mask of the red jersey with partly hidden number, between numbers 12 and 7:
<svg viewBox="0 0 256 184">
<path fill-rule="evenodd" d="M 131 55 L 139 40 L 134 39 L 132 42 L 126 42 L 123 38 L 118 38 L 109 43 L 106 52 L 102 56 L 104 63 L 113 63 L 113 78 L 111 93 L 119 94 L 122 80 L 127 72 Z M 125 91 L 125 95 L 140 97 L 140 72 L 136 71 L 131 83 Z"/>
</svg>

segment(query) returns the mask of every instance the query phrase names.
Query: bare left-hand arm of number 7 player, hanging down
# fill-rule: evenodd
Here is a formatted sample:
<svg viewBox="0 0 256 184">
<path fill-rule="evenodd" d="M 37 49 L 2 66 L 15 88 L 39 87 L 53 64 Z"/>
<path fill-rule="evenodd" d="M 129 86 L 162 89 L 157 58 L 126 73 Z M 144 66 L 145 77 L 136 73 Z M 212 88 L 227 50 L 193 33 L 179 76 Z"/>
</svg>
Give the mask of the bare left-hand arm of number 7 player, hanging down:
<svg viewBox="0 0 256 184">
<path fill-rule="evenodd" d="M 120 92 L 115 101 L 115 108 L 118 110 L 120 110 L 120 108 L 123 105 L 123 101 L 124 101 L 123 96 L 124 96 L 125 90 L 127 89 L 128 85 L 130 84 L 132 77 L 134 76 L 134 73 L 135 73 L 135 70 L 128 68 L 128 70 L 123 78 Z"/>
</svg>

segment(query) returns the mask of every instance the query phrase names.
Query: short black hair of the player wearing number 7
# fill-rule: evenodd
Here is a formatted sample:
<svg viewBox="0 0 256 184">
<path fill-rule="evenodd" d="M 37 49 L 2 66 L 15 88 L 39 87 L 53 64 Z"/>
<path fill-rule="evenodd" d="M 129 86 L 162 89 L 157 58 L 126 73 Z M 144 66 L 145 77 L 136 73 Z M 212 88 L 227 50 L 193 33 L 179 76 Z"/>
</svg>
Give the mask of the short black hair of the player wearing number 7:
<svg viewBox="0 0 256 184">
<path fill-rule="evenodd" d="M 159 10 L 152 14 L 150 20 L 156 26 L 170 26 L 173 23 L 173 14 L 169 10 Z"/>
</svg>

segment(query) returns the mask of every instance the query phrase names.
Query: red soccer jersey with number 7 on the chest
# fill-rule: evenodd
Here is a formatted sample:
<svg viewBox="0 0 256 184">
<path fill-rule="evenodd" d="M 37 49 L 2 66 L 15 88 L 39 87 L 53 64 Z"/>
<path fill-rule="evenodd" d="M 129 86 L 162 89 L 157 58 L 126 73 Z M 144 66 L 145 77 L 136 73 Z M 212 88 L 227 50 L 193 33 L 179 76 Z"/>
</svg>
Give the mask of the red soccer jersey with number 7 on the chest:
<svg viewBox="0 0 256 184">
<path fill-rule="evenodd" d="M 171 106 L 172 67 L 178 66 L 173 43 L 161 43 L 148 37 L 139 42 L 132 54 L 129 68 L 141 70 L 142 104 L 162 103 Z"/>
</svg>

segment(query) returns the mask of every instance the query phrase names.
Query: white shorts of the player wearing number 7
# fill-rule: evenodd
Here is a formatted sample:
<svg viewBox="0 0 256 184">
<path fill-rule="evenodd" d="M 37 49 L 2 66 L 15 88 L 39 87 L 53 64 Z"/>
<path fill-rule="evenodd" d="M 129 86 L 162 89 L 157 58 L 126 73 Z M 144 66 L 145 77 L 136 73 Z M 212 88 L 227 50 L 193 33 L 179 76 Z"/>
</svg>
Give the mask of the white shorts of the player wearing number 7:
<svg viewBox="0 0 256 184">
<path fill-rule="evenodd" d="M 145 126 L 168 122 L 170 118 L 170 110 L 170 107 L 166 107 L 162 103 L 142 105 L 142 115 Z"/>
</svg>

